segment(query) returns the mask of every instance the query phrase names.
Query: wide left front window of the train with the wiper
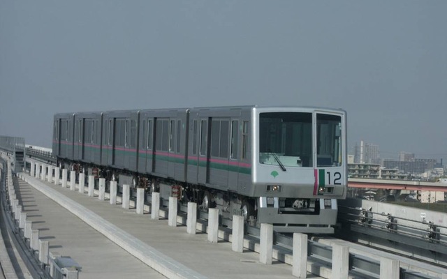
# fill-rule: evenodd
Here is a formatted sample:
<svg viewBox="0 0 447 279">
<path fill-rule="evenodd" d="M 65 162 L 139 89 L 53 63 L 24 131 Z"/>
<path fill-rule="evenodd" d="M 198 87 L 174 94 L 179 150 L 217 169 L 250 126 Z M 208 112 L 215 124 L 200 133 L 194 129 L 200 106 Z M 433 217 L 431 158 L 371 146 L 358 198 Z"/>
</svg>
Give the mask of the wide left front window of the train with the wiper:
<svg viewBox="0 0 447 279">
<path fill-rule="evenodd" d="M 312 113 L 259 114 L 259 162 L 285 167 L 312 167 Z"/>
</svg>

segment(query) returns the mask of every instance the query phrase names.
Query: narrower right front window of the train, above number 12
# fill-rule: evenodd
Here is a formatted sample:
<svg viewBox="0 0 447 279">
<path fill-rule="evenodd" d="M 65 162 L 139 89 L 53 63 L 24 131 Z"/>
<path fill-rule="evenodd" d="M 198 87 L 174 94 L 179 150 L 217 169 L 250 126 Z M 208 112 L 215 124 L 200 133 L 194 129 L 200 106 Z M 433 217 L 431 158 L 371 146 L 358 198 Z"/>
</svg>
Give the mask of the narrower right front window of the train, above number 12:
<svg viewBox="0 0 447 279">
<path fill-rule="evenodd" d="M 342 165 L 342 117 L 316 114 L 317 167 Z"/>
</svg>

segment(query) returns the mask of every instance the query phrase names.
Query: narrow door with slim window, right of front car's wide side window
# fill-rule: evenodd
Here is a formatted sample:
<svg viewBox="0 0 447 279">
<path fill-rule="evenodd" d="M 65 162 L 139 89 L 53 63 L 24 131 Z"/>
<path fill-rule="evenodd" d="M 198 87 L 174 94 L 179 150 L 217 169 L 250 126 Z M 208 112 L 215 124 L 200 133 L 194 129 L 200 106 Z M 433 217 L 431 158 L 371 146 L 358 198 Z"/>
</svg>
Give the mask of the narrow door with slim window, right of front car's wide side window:
<svg viewBox="0 0 447 279">
<path fill-rule="evenodd" d="M 239 119 L 230 120 L 230 159 L 228 161 L 228 190 L 237 192 L 239 180 L 239 142 L 240 142 L 240 121 Z"/>
</svg>

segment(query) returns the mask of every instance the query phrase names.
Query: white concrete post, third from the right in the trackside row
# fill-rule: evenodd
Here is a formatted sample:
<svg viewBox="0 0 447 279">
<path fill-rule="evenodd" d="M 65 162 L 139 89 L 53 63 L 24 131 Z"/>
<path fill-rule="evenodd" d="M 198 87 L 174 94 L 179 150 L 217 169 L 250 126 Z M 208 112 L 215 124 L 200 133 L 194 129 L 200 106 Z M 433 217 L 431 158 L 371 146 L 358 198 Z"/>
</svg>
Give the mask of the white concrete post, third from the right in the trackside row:
<svg viewBox="0 0 447 279">
<path fill-rule="evenodd" d="M 298 278 L 307 276 L 307 234 L 293 234 L 292 275 Z"/>
</svg>

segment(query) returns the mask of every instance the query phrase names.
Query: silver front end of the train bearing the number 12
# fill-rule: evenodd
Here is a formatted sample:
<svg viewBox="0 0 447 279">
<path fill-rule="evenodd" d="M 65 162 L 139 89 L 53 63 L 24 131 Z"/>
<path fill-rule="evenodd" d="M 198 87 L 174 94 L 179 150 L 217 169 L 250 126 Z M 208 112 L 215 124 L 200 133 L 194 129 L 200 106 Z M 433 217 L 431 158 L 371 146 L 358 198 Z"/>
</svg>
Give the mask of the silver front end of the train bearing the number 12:
<svg viewBox="0 0 447 279">
<path fill-rule="evenodd" d="M 346 112 L 254 107 L 252 193 L 258 224 L 330 234 L 346 197 Z"/>
</svg>

